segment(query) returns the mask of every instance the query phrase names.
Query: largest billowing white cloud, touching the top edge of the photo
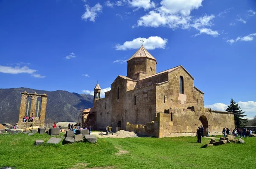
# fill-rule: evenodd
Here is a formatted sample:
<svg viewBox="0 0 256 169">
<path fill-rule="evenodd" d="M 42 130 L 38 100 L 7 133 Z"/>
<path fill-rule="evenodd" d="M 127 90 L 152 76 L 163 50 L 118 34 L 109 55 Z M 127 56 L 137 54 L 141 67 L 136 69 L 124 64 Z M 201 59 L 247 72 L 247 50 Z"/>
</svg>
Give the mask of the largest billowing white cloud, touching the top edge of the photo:
<svg viewBox="0 0 256 169">
<path fill-rule="evenodd" d="M 171 29 L 190 29 L 194 28 L 200 34 L 218 36 L 218 31 L 209 27 L 213 26 L 212 20 L 215 16 L 204 15 L 196 18 L 190 15 L 191 11 L 202 6 L 203 0 L 162 0 L 161 6 L 155 8 L 140 17 L 137 24 L 133 26 L 160 27 L 167 26 Z"/>
</svg>

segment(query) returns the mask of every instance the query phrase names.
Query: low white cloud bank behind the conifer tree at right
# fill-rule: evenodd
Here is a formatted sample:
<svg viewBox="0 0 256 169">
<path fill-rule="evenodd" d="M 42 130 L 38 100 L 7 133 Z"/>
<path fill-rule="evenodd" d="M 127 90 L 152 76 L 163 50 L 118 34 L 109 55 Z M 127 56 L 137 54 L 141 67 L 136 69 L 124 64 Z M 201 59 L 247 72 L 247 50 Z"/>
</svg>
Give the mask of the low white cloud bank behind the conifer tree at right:
<svg viewBox="0 0 256 169">
<path fill-rule="evenodd" d="M 255 101 L 247 101 L 247 102 L 238 102 L 238 106 L 245 112 L 246 117 L 253 117 L 256 115 L 256 102 Z M 225 111 L 227 109 L 227 105 L 224 103 L 215 103 L 212 105 L 205 105 L 207 108 L 211 108 L 213 110 Z"/>
</svg>

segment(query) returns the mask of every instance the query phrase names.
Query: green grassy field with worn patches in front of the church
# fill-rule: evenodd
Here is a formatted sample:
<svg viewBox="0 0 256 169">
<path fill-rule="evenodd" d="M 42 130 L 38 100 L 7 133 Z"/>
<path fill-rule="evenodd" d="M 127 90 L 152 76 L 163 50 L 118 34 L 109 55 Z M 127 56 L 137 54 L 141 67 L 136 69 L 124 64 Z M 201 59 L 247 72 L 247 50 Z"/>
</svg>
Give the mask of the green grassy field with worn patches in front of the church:
<svg viewBox="0 0 256 169">
<path fill-rule="evenodd" d="M 98 143 L 35 146 L 48 135 L 0 135 L 0 168 L 17 169 L 255 169 L 256 137 L 202 149 L 209 138 L 98 138 Z M 116 154 L 117 153 L 117 154 Z"/>
</svg>

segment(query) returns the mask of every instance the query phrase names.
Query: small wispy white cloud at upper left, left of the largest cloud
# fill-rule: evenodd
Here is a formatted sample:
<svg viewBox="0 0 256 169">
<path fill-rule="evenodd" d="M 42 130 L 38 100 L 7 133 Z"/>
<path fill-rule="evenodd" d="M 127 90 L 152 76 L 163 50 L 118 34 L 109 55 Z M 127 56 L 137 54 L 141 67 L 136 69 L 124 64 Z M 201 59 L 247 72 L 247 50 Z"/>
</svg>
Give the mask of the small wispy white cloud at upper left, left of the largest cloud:
<svg viewBox="0 0 256 169">
<path fill-rule="evenodd" d="M 94 22 L 95 18 L 98 16 L 98 13 L 102 12 L 102 6 L 97 3 L 95 6 L 90 7 L 89 5 L 85 5 L 85 12 L 81 16 L 83 20 L 89 19 L 90 21 Z"/>
</svg>

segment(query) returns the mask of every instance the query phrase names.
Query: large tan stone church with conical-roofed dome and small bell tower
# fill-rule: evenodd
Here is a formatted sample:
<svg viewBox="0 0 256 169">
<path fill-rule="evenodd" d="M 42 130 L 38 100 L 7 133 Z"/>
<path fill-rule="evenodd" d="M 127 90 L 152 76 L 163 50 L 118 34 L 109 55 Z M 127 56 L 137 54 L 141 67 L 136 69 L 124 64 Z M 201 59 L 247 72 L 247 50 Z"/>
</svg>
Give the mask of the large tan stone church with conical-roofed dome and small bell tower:
<svg viewBox="0 0 256 169">
<path fill-rule="evenodd" d="M 105 98 L 95 86 L 93 108 L 84 110 L 94 129 L 112 123 L 114 132 L 154 137 L 194 136 L 200 125 L 210 134 L 234 129 L 232 113 L 204 108 L 204 92 L 182 65 L 157 73 L 157 60 L 143 46 L 127 63 L 127 76 L 118 75 Z"/>
</svg>

